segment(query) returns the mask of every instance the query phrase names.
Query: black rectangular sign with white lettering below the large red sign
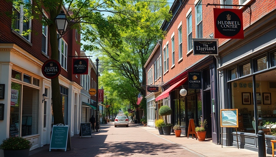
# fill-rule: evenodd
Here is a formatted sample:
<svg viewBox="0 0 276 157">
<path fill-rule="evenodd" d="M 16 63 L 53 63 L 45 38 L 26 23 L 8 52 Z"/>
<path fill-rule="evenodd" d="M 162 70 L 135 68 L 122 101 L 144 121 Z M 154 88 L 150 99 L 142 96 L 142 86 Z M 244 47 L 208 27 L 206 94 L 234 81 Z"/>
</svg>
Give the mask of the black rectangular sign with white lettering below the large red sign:
<svg viewBox="0 0 276 157">
<path fill-rule="evenodd" d="M 193 55 L 218 55 L 217 39 L 193 39 Z"/>
</svg>

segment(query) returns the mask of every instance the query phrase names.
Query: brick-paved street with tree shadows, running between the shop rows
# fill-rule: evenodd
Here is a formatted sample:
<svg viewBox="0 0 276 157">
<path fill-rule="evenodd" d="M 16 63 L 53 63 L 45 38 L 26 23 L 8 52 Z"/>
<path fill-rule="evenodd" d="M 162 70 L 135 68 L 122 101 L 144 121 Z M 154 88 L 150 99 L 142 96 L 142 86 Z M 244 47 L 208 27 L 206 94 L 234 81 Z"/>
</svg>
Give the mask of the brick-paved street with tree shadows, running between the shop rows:
<svg viewBox="0 0 276 157">
<path fill-rule="evenodd" d="M 71 150 L 51 150 L 49 145 L 30 151 L 30 157 L 105 157 L 105 156 L 187 156 L 198 155 L 156 136 L 137 125 L 114 127 L 101 125 L 101 132 L 93 132 L 92 138 L 71 137 Z"/>
</svg>

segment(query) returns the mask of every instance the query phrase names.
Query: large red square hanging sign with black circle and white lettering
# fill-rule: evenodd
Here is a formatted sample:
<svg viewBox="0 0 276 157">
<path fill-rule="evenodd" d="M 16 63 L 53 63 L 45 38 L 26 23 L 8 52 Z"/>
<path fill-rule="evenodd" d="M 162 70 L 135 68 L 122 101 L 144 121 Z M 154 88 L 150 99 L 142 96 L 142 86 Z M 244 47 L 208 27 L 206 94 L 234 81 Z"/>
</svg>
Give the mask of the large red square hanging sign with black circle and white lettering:
<svg viewBox="0 0 276 157">
<path fill-rule="evenodd" d="M 242 9 L 214 10 L 215 38 L 243 39 Z"/>
</svg>

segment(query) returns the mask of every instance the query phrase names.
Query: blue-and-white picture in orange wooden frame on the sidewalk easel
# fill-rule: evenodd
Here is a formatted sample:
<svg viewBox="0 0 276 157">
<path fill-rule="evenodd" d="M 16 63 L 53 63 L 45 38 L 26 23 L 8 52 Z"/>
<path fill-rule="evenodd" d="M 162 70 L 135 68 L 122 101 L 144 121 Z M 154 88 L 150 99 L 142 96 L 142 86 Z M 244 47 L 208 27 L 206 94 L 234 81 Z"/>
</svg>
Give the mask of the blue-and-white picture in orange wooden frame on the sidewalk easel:
<svg viewBox="0 0 276 157">
<path fill-rule="evenodd" d="M 236 128 L 238 126 L 238 109 L 221 109 L 221 127 Z"/>
</svg>

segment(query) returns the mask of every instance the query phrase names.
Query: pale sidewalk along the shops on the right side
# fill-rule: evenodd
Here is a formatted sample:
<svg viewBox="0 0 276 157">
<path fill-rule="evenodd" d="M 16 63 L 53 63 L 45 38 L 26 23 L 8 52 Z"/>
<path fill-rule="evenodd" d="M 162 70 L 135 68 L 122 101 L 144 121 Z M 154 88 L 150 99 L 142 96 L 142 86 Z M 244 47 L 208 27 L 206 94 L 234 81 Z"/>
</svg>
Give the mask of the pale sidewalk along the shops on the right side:
<svg viewBox="0 0 276 157">
<path fill-rule="evenodd" d="M 238 149 L 232 146 L 222 146 L 213 144 L 212 140 L 205 139 L 205 141 L 200 142 L 195 138 L 187 138 L 184 135 L 181 137 L 176 137 L 174 133 L 171 135 L 159 135 L 157 129 L 148 126 L 139 126 L 139 128 L 145 129 L 152 134 L 163 138 L 164 140 L 170 141 L 173 144 L 179 144 L 183 149 L 191 151 L 202 157 L 239 157 L 239 156 L 253 156 L 258 157 L 257 151 L 250 151 L 247 149 Z M 271 154 L 266 154 L 266 157 L 271 157 Z"/>
</svg>

